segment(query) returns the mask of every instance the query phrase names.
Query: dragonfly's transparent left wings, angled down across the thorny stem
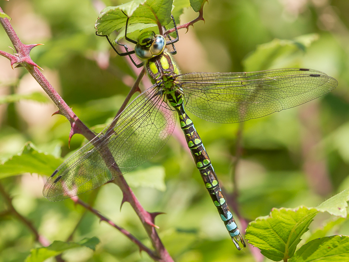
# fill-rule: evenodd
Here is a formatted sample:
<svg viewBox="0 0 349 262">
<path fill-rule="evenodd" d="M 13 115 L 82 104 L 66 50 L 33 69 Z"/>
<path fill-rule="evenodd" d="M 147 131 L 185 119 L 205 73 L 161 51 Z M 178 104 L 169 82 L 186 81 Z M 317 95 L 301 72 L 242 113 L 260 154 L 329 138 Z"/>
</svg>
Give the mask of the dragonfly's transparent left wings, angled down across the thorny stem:
<svg viewBox="0 0 349 262">
<path fill-rule="evenodd" d="M 117 121 L 54 171 L 44 186 L 44 196 L 59 201 L 79 195 L 112 180 L 116 176 L 108 169 L 112 165 L 125 174 L 151 159 L 176 123 L 176 113 L 162 99 L 152 87 L 137 96 Z"/>
</svg>

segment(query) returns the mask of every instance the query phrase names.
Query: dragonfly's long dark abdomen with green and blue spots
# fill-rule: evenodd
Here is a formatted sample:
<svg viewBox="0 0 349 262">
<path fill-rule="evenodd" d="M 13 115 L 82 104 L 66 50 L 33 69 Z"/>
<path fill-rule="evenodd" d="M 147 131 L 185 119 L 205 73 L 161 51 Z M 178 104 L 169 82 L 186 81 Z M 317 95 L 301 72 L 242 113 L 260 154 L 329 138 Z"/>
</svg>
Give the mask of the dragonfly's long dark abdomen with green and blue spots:
<svg viewBox="0 0 349 262">
<path fill-rule="evenodd" d="M 212 201 L 218 210 L 220 218 L 225 224 L 230 236 L 236 247 L 240 250 L 238 241 L 241 241 L 243 246 L 245 243 L 243 241 L 240 230 L 233 218 L 233 214 L 229 210 L 229 206 L 224 199 L 222 191 L 219 187 L 217 175 L 211 164 L 211 160 L 205 146 L 199 134 L 196 132 L 193 122 L 186 114 L 183 105 L 183 95 L 179 90 L 167 94 L 167 99 L 170 104 L 177 111 L 181 128 L 185 134 L 188 147 L 191 151 L 191 155 L 194 158 L 196 168 L 199 170 L 200 175 L 205 183 L 206 189 L 209 191 Z M 238 239 L 235 239 L 237 237 Z"/>
</svg>

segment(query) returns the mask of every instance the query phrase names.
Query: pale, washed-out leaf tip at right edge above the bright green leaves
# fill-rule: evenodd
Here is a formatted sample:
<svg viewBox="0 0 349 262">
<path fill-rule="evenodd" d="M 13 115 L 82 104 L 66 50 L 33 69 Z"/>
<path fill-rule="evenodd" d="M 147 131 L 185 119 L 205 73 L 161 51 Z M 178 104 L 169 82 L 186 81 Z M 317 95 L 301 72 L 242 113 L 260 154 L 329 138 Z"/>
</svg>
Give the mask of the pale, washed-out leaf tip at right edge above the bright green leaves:
<svg viewBox="0 0 349 262">
<path fill-rule="evenodd" d="M 346 189 L 330 199 L 327 199 L 322 204 L 319 204 L 316 208 L 321 212 L 326 211 L 331 215 L 347 217 L 347 201 L 349 201 L 349 189 Z"/>
</svg>

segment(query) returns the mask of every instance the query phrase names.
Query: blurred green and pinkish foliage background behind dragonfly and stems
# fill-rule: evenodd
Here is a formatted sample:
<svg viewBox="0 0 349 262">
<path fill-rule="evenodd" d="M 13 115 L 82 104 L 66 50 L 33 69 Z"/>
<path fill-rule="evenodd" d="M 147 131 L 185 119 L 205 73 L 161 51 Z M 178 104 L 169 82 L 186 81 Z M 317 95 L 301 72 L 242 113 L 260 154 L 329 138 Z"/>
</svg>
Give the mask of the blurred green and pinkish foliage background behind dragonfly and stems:
<svg viewBox="0 0 349 262">
<path fill-rule="evenodd" d="M 22 42 L 45 44 L 34 48 L 31 58 L 88 127 L 104 124 L 115 115 L 136 78 L 127 60 L 114 54 L 105 38 L 95 35 L 99 12 L 121 3 L 0 2 Z M 179 32 L 174 58 L 182 73 L 305 67 L 323 71 L 339 82 L 320 99 L 245 122 L 241 141 L 237 141 L 239 124 L 216 124 L 189 114 L 227 194 L 232 193 L 232 174 L 236 174 L 240 213 L 247 221 L 268 215 L 273 207 L 315 206 L 349 186 L 348 14 L 347 0 L 210 1 L 204 8 L 206 22 L 198 22 L 187 33 L 185 29 Z M 191 8 L 185 9 L 181 24 L 196 16 Z M 8 46 L 11 42 L 0 29 L 0 50 L 12 53 Z M 1 96 L 33 91 L 43 92 L 25 69 L 12 70 L 9 60 L 0 57 Z M 70 124 L 63 116 L 51 116 L 56 110 L 53 102 L 21 100 L 0 105 L 1 161 L 20 152 L 27 141 L 56 157 L 79 148 L 81 135 L 75 135 L 68 148 Z M 235 169 L 239 143 L 242 155 Z M 248 248 L 239 252 L 233 246 L 177 136 L 125 178 L 146 210 L 166 213 L 157 217 L 156 224 L 175 261 L 255 261 Z M 40 234 L 50 241 L 65 241 L 84 210 L 70 200 L 46 200 L 42 196 L 44 180 L 36 174 L 19 174 L 0 183 L 13 197 L 18 212 Z M 151 246 L 131 206 L 126 203 L 120 211 L 122 193 L 114 184 L 81 198 Z M 38 244 L 26 226 L 2 212 L 6 208 L 0 196 L 0 262 L 20 262 Z M 331 218 L 322 216 L 311 230 L 326 219 Z M 348 235 L 349 224 L 337 230 L 329 234 Z M 101 240 L 95 253 L 80 248 L 66 252 L 63 258 L 72 262 L 151 261 L 123 234 L 86 213 L 73 240 L 92 236 Z"/>
</svg>

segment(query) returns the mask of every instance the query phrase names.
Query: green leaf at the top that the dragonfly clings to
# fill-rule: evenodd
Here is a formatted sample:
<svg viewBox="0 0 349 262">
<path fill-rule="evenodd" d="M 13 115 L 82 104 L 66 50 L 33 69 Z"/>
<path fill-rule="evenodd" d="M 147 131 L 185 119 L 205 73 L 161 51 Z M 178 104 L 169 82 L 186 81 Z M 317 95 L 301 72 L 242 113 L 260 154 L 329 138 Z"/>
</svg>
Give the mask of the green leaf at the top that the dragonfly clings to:
<svg viewBox="0 0 349 262">
<path fill-rule="evenodd" d="M 133 0 L 118 6 L 108 6 L 102 10 L 95 28 L 97 35 L 110 35 L 126 26 L 127 16 L 132 24 L 156 24 L 165 26 L 171 22 L 173 0 Z M 124 13 L 126 14 L 124 14 Z M 141 30 L 134 27 L 128 32 Z"/>
</svg>

